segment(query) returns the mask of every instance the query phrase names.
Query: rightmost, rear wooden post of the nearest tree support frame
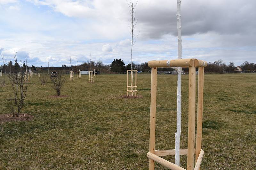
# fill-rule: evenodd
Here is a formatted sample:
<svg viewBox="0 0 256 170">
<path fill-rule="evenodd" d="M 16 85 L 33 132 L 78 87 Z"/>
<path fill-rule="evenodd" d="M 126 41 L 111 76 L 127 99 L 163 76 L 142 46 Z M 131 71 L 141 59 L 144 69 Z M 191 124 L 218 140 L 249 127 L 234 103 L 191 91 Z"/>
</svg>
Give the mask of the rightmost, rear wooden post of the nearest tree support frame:
<svg viewBox="0 0 256 170">
<path fill-rule="evenodd" d="M 196 123 L 196 161 L 202 146 L 203 124 L 203 98 L 204 98 L 204 67 L 198 69 L 198 92 L 197 92 L 197 123 Z"/>
</svg>

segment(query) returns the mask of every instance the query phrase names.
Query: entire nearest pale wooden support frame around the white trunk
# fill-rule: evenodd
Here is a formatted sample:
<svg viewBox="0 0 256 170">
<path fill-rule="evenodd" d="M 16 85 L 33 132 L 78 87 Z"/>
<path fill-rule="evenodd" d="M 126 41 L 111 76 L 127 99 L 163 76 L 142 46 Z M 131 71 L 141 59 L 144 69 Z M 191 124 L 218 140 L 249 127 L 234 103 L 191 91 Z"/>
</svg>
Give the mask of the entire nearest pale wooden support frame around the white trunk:
<svg viewBox="0 0 256 170">
<path fill-rule="evenodd" d="M 154 162 L 172 169 L 186 170 L 159 156 L 175 155 L 175 149 L 155 150 L 156 130 L 156 84 L 157 67 L 188 67 L 188 149 L 180 149 L 181 155 L 188 155 L 187 170 L 199 170 L 204 155 L 202 145 L 202 121 L 203 121 L 203 92 L 204 92 L 204 67 L 207 62 L 197 59 L 158 60 L 149 61 L 151 72 L 151 101 L 150 101 L 150 132 L 149 132 L 149 170 L 155 169 Z M 198 71 L 198 99 L 197 99 L 197 126 L 196 126 L 196 148 L 195 148 L 195 117 L 196 117 L 196 67 Z M 194 167 L 194 155 L 196 154 L 196 165 Z"/>
</svg>

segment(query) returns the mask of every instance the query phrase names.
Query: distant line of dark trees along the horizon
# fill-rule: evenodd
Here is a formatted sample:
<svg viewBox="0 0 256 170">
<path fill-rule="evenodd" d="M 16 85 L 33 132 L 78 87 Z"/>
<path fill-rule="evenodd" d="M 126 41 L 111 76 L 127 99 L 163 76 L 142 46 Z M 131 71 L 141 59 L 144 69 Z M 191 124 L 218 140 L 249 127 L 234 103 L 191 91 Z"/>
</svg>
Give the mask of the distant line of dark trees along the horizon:
<svg viewBox="0 0 256 170">
<path fill-rule="evenodd" d="M 82 65 L 79 66 L 72 66 L 72 69 L 76 72 L 76 69 L 79 70 L 90 70 L 92 65 L 92 70 L 101 71 L 105 73 L 117 73 L 117 74 L 123 74 L 126 72 L 126 70 L 133 69 L 138 70 L 139 72 L 150 72 L 150 68 L 148 67 L 148 62 L 143 62 L 141 64 L 135 64 L 133 63 L 131 67 L 131 62 L 129 62 L 127 65 L 125 65 L 124 61 L 122 59 L 114 59 L 111 64 L 104 64 L 102 60 L 95 61 L 86 61 L 83 62 Z M 28 67 L 24 63 L 23 68 L 30 68 L 31 71 L 43 71 L 46 72 L 49 70 L 49 72 L 52 71 L 64 71 L 69 73 L 70 67 L 35 67 L 31 66 Z M 243 72 L 256 72 L 256 64 L 255 63 L 249 63 L 248 61 L 244 61 L 243 64 L 239 66 Z M 8 64 L 4 64 L 0 66 L 0 70 L 2 72 L 6 73 L 12 73 L 17 71 L 17 69 L 20 68 L 20 65 L 15 62 L 13 65 L 12 61 L 9 61 Z M 227 65 L 223 60 L 218 60 L 214 62 L 209 62 L 207 67 L 204 68 L 205 72 L 209 73 L 234 73 L 234 69 L 236 68 L 236 65 L 234 62 L 229 62 Z M 185 70 L 185 72 L 188 72 L 188 68 L 182 68 Z M 173 71 L 173 68 L 158 68 L 158 71 Z"/>
</svg>

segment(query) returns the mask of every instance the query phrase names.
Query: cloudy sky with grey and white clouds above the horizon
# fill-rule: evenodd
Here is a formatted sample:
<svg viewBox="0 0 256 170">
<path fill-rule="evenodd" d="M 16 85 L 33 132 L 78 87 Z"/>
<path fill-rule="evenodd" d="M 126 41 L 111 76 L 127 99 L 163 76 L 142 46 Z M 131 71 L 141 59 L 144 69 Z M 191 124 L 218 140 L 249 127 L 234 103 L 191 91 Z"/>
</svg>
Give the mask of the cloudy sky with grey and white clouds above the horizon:
<svg viewBox="0 0 256 170">
<path fill-rule="evenodd" d="M 256 1 L 181 0 L 182 57 L 256 63 Z M 0 0 L 0 53 L 7 61 L 61 66 L 130 58 L 126 0 Z M 133 60 L 177 58 L 176 0 L 139 0 Z M 0 65 L 3 63 L 0 62 Z"/>
</svg>

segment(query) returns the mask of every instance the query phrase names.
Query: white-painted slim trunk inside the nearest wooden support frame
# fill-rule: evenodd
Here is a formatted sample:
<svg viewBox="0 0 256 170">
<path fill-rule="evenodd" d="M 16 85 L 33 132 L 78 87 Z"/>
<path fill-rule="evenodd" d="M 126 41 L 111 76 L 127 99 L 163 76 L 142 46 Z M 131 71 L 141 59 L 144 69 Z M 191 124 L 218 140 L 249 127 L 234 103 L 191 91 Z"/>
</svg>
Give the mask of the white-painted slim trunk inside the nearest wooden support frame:
<svg viewBox="0 0 256 170">
<path fill-rule="evenodd" d="M 178 30 L 178 59 L 181 56 L 181 21 L 180 21 L 180 0 L 177 0 L 177 30 Z M 180 132 L 181 132 L 181 67 L 177 68 L 177 132 L 175 133 L 175 164 L 180 166 Z"/>
</svg>

